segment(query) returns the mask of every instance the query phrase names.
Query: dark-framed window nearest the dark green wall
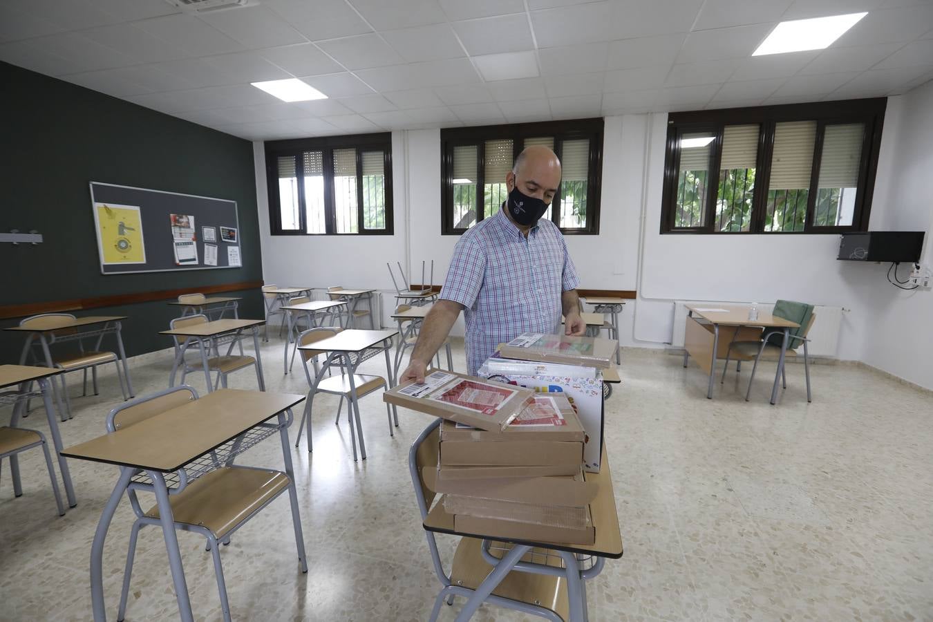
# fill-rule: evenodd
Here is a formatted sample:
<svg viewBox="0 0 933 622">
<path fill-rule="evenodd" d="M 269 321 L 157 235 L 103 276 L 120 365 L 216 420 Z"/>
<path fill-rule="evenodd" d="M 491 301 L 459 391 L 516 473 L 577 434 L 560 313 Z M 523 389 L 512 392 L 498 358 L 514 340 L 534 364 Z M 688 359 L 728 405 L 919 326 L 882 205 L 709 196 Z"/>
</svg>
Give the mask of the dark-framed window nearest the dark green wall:
<svg viewBox="0 0 933 622">
<path fill-rule="evenodd" d="M 392 234 L 391 134 L 266 143 L 272 235 Z"/>
</svg>

